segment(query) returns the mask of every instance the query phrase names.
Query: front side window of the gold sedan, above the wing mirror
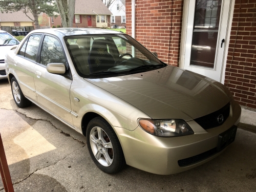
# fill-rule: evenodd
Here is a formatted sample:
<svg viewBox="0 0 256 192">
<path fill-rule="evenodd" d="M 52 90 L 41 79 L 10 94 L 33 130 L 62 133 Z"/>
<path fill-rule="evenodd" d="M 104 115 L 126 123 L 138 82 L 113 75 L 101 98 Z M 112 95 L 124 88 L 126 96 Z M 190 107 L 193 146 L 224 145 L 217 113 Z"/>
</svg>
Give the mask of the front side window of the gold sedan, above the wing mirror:
<svg viewBox="0 0 256 192">
<path fill-rule="evenodd" d="M 67 61 L 59 41 L 52 36 L 46 35 L 42 42 L 40 63 L 47 66 L 48 63 L 52 62 L 65 64 Z"/>
</svg>

